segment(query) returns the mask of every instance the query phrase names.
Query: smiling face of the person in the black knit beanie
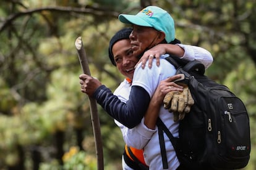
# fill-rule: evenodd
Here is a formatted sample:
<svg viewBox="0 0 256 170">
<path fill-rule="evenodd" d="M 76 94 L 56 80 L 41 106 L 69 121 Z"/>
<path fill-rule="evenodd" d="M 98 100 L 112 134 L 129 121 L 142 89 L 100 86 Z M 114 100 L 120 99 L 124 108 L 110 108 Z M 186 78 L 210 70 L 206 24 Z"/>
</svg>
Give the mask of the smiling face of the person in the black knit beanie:
<svg viewBox="0 0 256 170">
<path fill-rule="evenodd" d="M 133 54 L 130 46 L 130 39 L 121 39 L 117 41 L 112 48 L 114 61 L 117 69 L 129 79 L 134 76 L 135 65 L 139 61 L 136 55 Z"/>
</svg>

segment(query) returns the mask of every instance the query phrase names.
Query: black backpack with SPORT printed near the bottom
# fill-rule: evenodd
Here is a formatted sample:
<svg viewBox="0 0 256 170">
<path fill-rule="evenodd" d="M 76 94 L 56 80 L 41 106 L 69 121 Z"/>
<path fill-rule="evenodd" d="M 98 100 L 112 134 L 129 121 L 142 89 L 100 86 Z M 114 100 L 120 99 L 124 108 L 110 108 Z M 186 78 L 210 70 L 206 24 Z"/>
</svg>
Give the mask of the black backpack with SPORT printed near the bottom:
<svg viewBox="0 0 256 170">
<path fill-rule="evenodd" d="M 177 74 L 185 75 L 182 83 L 189 86 L 195 103 L 179 121 L 179 138 L 173 137 L 161 119 L 157 121 L 164 168 L 168 169 L 163 132 L 176 150 L 181 169 L 244 168 L 250 158 L 250 125 L 244 103 L 228 87 L 205 76 L 202 63 L 177 57 L 166 60 Z"/>
</svg>

